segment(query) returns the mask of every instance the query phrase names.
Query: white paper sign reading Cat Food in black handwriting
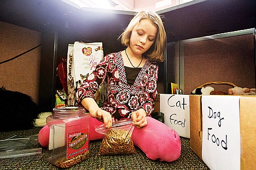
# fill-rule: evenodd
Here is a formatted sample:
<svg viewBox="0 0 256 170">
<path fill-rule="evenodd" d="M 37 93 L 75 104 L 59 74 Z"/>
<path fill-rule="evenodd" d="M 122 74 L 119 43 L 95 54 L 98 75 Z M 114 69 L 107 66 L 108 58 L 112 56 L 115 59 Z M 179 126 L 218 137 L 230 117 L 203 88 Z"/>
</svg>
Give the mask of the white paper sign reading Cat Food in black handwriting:
<svg viewBox="0 0 256 170">
<path fill-rule="evenodd" d="M 167 126 L 190 138 L 189 95 L 160 94 L 160 112 L 165 114 Z"/>
</svg>

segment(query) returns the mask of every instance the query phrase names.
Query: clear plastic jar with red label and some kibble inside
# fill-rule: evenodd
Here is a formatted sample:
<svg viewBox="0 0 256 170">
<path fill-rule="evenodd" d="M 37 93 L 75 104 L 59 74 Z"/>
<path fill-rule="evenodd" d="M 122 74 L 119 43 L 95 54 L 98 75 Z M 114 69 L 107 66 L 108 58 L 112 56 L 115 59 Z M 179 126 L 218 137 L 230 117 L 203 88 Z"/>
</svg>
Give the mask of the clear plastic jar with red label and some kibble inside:
<svg viewBox="0 0 256 170">
<path fill-rule="evenodd" d="M 69 168 L 89 158 L 90 117 L 82 107 L 59 107 L 46 119 L 49 145 L 45 159 L 59 168 Z"/>
</svg>

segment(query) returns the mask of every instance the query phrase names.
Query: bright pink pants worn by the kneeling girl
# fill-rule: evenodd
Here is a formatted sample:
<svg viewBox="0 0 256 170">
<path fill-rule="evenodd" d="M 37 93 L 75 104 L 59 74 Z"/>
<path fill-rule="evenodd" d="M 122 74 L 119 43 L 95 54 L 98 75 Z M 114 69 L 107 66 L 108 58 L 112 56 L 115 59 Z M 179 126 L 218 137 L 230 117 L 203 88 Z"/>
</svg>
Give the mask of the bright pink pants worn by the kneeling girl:
<svg viewBox="0 0 256 170">
<path fill-rule="evenodd" d="M 148 125 L 135 127 L 132 132 L 133 143 L 140 148 L 149 159 L 172 162 L 181 155 L 181 140 L 179 135 L 167 125 L 147 117 Z M 95 131 L 95 126 L 103 124 L 90 117 L 90 141 L 102 139 L 103 134 Z M 45 125 L 38 134 L 38 141 L 43 147 L 48 147 L 49 127 Z"/>
</svg>

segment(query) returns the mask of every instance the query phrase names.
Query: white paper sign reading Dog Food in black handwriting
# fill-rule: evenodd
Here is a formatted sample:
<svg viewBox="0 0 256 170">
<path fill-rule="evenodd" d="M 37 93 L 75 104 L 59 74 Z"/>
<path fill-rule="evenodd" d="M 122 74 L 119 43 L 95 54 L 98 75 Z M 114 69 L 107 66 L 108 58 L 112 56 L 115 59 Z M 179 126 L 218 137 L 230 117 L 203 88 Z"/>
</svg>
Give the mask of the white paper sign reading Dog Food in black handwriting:
<svg viewBox="0 0 256 170">
<path fill-rule="evenodd" d="M 240 169 L 239 99 L 202 96 L 202 160 L 212 170 Z"/>
</svg>

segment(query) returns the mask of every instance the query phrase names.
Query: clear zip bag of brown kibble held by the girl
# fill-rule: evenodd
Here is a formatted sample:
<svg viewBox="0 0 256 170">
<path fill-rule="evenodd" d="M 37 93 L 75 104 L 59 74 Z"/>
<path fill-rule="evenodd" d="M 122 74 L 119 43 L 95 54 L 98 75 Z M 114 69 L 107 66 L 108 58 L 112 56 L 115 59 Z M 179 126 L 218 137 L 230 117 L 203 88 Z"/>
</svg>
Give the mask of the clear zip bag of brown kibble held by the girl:
<svg viewBox="0 0 256 170">
<path fill-rule="evenodd" d="M 112 127 L 107 129 L 104 125 L 97 126 L 96 132 L 104 134 L 100 155 L 123 155 L 136 154 L 137 151 L 131 138 L 134 126 L 131 119 L 113 122 Z"/>
</svg>

